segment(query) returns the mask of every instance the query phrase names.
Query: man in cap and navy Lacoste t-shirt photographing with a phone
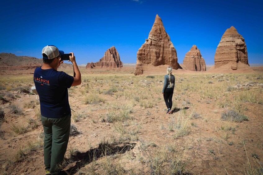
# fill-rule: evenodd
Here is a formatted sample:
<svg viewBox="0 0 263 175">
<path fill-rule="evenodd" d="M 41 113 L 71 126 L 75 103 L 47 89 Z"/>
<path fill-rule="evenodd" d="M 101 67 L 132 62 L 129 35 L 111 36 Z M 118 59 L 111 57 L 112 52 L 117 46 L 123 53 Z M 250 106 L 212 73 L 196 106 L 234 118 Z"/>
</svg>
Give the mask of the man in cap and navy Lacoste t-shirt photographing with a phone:
<svg viewBox="0 0 263 175">
<path fill-rule="evenodd" d="M 39 94 L 41 122 L 44 129 L 44 164 L 47 174 L 58 174 L 59 164 L 66 153 L 71 111 L 68 88 L 81 84 L 81 74 L 74 53 L 70 57 L 73 77 L 57 68 L 63 63 L 64 52 L 56 46 L 45 46 L 42 50 L 43 65 L 35 69 L 34 83 Z"/>
</svg>

